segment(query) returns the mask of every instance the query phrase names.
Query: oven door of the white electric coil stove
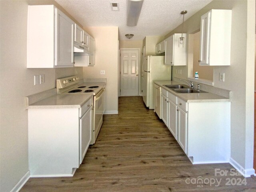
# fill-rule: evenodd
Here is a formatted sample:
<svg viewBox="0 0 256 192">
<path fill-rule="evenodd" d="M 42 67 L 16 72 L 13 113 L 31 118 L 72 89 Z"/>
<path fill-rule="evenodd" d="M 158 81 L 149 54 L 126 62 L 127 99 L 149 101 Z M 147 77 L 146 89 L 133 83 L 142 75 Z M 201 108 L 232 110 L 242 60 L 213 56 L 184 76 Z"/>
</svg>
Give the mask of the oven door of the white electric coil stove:
<svg viewBox="0 0 256 192">
<path fill-rule="evenodd" d="M 105 108 L 105 88 L 100 90 L 96 96 L 94 96 L 94 132 L 93 132 L 93 143 L 95 143 L 96 138 L 100 132 L 100 128 L 103 122 L 103 112 Z"/>
</svg>

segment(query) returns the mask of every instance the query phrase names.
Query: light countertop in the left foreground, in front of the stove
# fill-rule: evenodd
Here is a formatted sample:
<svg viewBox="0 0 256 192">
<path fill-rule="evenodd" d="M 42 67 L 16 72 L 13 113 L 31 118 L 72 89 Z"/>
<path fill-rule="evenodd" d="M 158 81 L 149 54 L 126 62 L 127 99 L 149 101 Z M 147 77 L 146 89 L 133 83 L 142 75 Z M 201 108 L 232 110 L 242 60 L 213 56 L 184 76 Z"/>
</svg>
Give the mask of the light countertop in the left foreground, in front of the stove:
<svg viewBox="0 0 256 192">
<path fill-rule="evenodd" d="M 27 109 L 80 108 L 93 94 L 55 94 L 28 105 Z"/>
</svg>

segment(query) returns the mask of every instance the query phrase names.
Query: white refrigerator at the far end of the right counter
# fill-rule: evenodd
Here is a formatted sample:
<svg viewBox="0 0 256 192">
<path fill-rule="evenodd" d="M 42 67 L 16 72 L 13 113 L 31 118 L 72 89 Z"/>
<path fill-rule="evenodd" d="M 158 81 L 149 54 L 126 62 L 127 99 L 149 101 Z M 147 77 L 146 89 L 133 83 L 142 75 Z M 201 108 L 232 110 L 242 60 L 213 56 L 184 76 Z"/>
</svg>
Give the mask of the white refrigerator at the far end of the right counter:
<svg viewBox="0 0 256 192">
<path fill-rule="evenodd" d="M 154 81 L 171 80 L 171 66 L 164 56 L 146 56 L 142 62 L 142 97 L 146 107 L 154 109 Z"/>
</svg>

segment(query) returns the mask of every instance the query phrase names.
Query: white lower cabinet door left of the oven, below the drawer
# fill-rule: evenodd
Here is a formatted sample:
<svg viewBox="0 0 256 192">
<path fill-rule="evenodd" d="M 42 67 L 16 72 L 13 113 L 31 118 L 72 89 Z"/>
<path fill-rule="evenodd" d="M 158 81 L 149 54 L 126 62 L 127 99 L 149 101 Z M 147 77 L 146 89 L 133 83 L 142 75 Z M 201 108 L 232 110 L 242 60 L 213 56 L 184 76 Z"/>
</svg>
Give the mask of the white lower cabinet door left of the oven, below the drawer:
<svg viewBox="0 0 256 192">
<path fill-rule="evenodd" d="M 92 140 L 92 108 L 80 119 L 80 164 Z"/>
</svg>

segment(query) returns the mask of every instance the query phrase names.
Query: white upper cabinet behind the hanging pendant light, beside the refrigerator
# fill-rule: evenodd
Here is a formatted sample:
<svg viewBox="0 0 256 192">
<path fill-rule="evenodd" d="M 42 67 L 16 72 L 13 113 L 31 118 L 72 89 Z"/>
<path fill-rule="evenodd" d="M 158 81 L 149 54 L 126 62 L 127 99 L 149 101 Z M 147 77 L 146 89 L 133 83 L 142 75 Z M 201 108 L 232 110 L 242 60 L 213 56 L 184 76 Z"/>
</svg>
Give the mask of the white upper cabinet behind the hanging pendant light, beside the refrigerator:
<svg viewBox="0 0 256 192">
<path fill-rule="evenodd" d="M 165 62 L 166 65 L 184 66 L 187 65 L 186 34 L 184 47 L 178 47 L 181 33 L 173 34 L 165 40 Z"/>
</svg>

